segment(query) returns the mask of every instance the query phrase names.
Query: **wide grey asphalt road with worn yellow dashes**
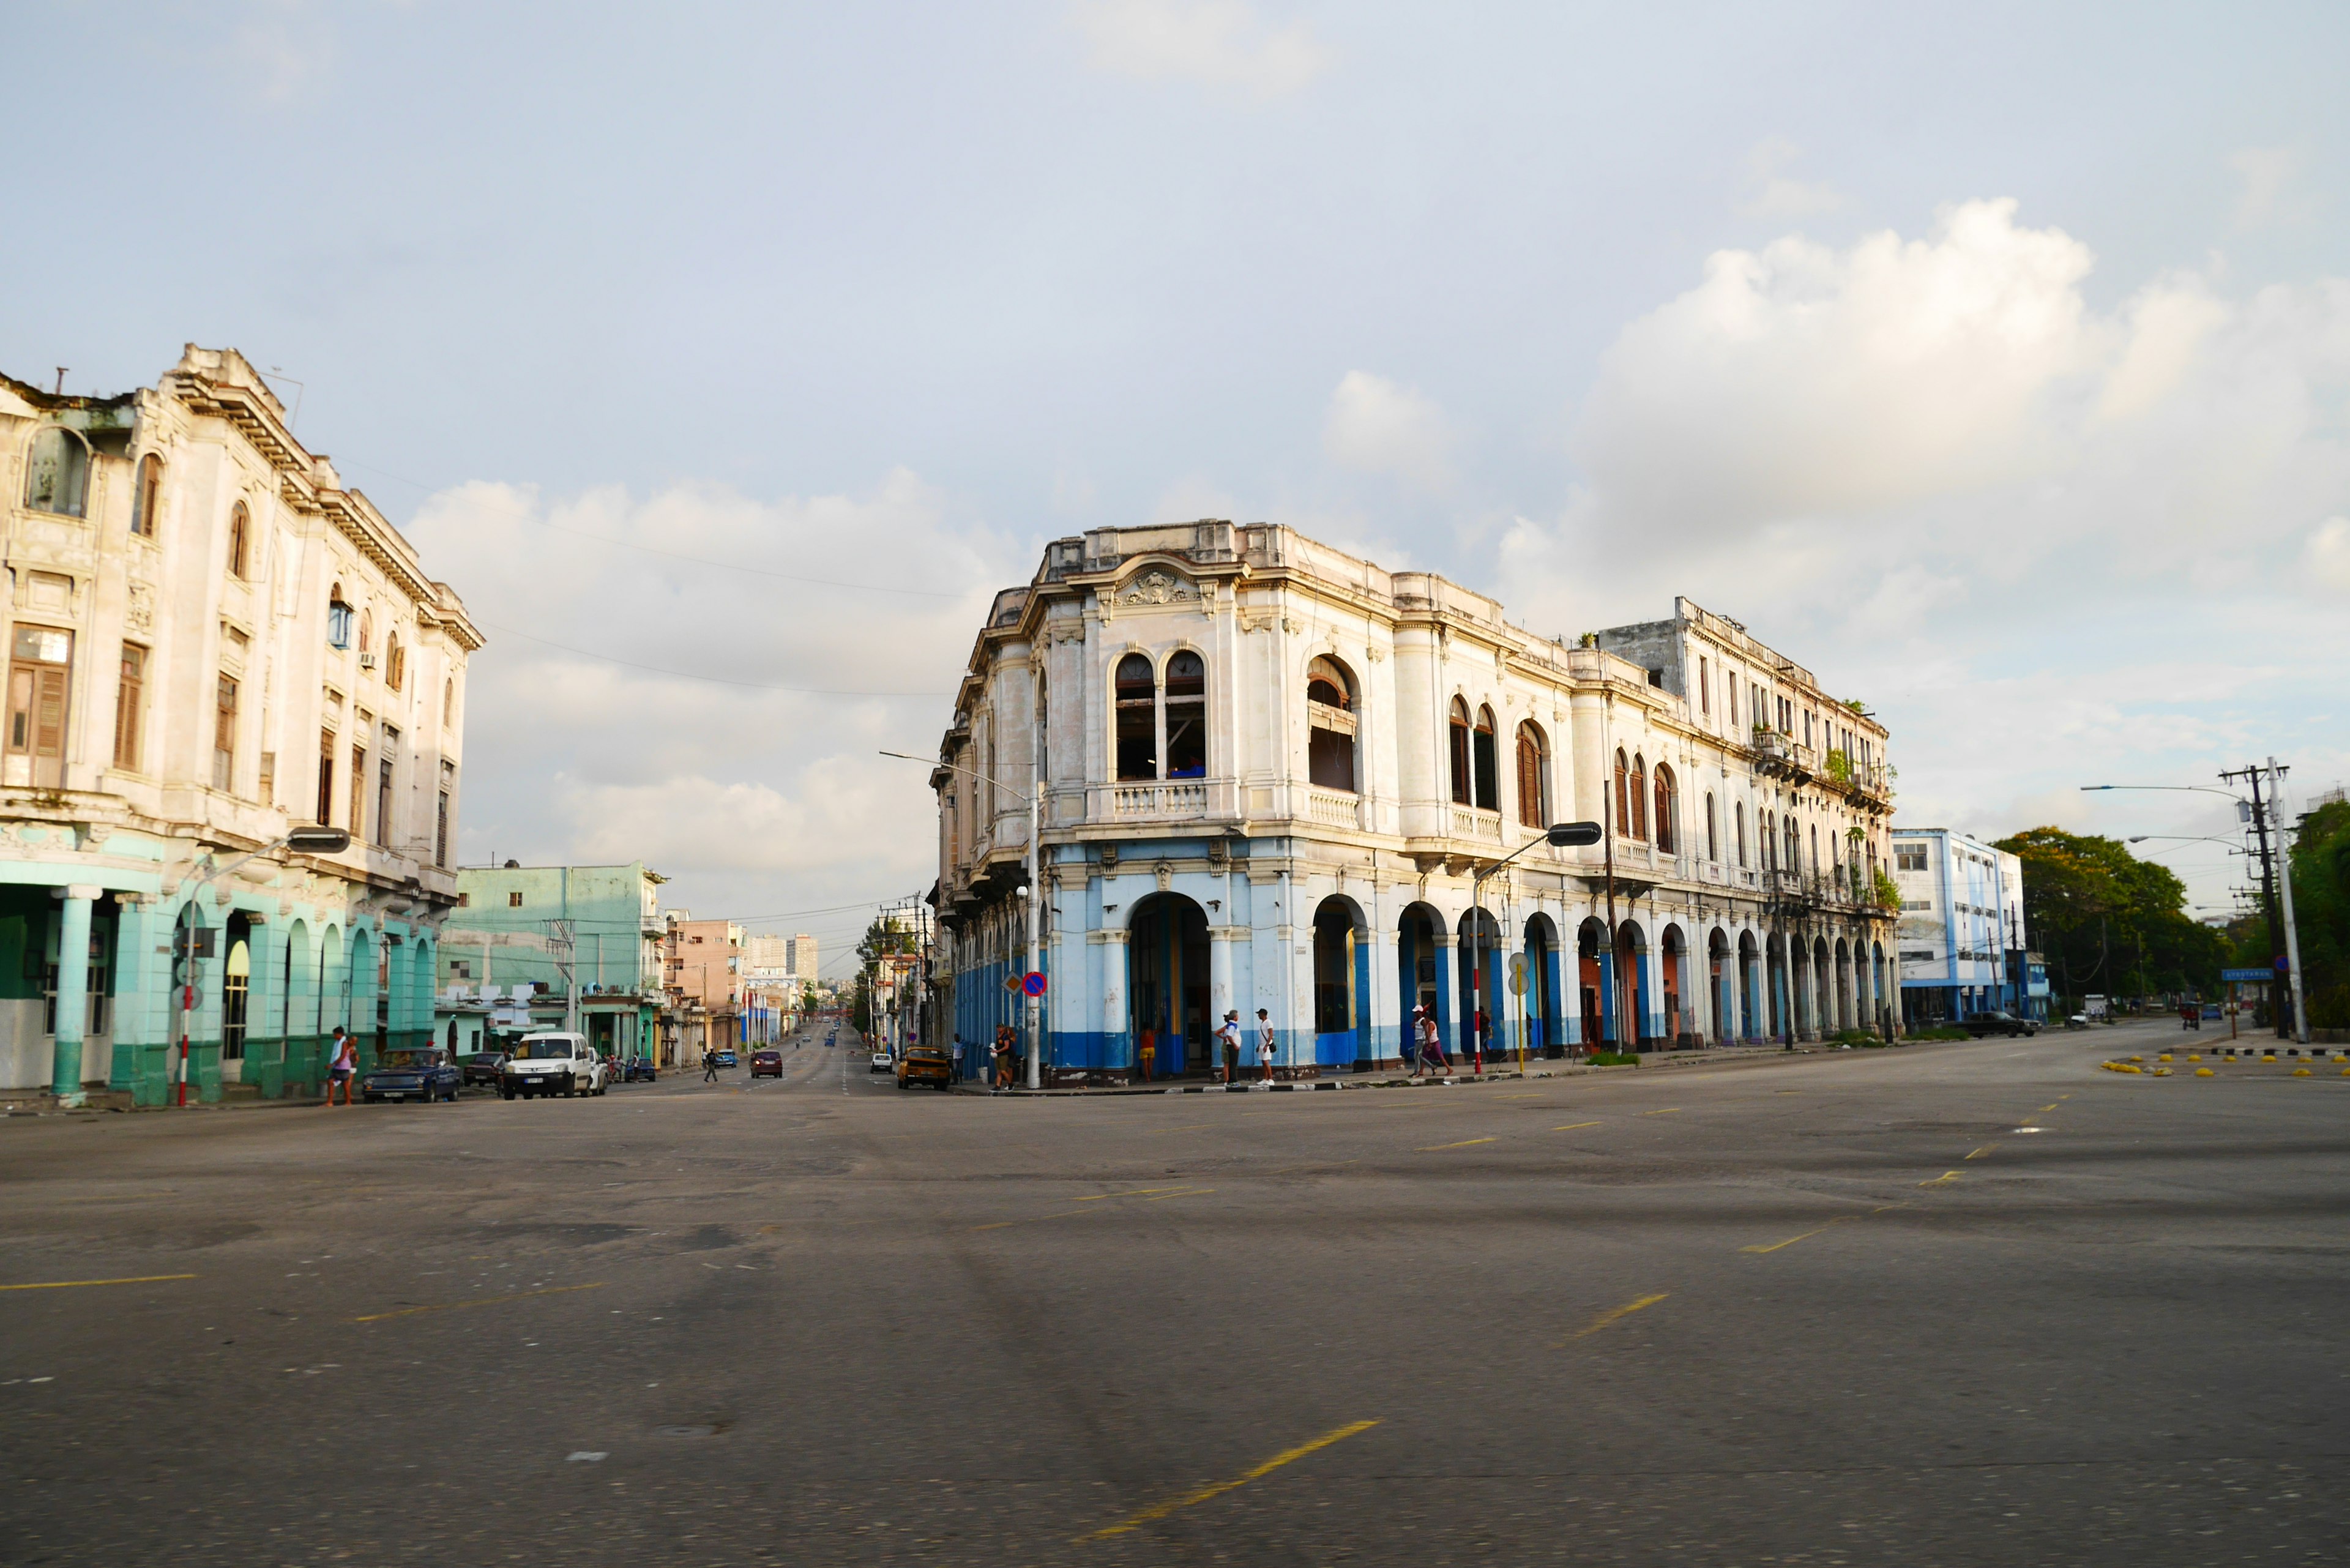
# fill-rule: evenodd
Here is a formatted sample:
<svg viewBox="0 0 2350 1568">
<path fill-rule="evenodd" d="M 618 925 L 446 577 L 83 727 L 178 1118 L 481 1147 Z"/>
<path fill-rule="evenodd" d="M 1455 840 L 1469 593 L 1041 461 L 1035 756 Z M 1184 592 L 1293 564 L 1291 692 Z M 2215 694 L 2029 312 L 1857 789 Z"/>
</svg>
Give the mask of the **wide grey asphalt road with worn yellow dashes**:
<svg viewBox="0 0 2350 1568">
<path fill-rule="evenodd" d="M 143 1281 L 0 1291 L 0 1561 L 2350 1559 L 2338 1065 L 996 1100 L 851 1039 L 0 1124 L 0 1284 Z"/>
</svg>

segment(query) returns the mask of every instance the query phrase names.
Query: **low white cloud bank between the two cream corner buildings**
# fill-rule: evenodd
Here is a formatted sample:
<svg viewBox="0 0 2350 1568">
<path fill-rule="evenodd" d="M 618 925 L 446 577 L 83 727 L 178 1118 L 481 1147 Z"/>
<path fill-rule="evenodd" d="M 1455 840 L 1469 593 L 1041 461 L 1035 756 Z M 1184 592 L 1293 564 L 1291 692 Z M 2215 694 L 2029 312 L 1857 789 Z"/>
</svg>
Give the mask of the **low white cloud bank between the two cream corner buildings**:
<svg viewBox="0 0 2350 1568">
<path fill-rule="evenodd" d="M 785 501 L 482 482 L 409 534 L 489 637 L 465 860 L 644 858 L 714 910 L 928 886 L 926 773 L 877 752 L 935 745 L 987 599 L 1029 571 L 947 496 L 905 470 Z"/>
</svg>

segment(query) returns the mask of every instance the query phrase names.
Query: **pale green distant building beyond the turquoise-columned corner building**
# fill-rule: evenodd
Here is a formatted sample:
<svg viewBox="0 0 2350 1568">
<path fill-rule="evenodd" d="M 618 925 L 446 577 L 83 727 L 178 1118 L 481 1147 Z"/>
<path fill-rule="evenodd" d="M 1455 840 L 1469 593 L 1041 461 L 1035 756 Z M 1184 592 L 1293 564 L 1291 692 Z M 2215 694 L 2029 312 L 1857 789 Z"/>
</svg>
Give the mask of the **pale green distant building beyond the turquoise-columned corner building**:
<svg viewBox="0 0 2350 1568">
<path fill-rule="evenodd" d="M 599 1051 L 658 1058 L 663 882 L 642 860 L 458 870 L 435 1016 L 442 1044 L 486 1009 L 491 1037 L 569 1027 Z"/>
</svg>

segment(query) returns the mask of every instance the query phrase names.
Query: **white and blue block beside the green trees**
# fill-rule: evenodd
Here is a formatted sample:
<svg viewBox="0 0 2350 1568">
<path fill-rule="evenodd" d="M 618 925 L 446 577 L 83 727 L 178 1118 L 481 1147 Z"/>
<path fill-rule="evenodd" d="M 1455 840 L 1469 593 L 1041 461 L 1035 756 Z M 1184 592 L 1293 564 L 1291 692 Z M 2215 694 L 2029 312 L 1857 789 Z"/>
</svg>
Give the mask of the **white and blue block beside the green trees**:
<svg viewBox="0 0 2350 1568">
<path fill-rule="evenodd" d="M 2023 860 L 1948 827 L 1894 827 L 1901 1011 L 1913 1027 L 1974 1013 L 2047 1016 L 2047 966 L 2026 945 Z"/>
</svg>

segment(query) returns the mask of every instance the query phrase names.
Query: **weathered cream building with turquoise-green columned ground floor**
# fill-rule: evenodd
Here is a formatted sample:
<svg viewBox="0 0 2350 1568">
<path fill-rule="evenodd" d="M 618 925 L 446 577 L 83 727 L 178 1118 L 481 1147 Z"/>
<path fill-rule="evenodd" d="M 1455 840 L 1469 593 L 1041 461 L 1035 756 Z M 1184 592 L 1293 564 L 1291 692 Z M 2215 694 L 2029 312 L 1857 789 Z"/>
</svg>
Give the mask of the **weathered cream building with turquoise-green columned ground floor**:
<svg viewBox="0 0 2350 1568">
<path fill-rule="evenodd" d="M 176 1095 L 179 926 L 190 1100 L 315 1091 L 336 1025 L 430 1039 L 482 646 L 449 585 L 193 343 L 115 397 L 0 376 L 0 1095 Z M 350 849 L 268 849 L 301 823 Z"/>
</svg>

